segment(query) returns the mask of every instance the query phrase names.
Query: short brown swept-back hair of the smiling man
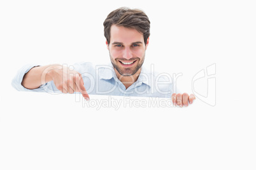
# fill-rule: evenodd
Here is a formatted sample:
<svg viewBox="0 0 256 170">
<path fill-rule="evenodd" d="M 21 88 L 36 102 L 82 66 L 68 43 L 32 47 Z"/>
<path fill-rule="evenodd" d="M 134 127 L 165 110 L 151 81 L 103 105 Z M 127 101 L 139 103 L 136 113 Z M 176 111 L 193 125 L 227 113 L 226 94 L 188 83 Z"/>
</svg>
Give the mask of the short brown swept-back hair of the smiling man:
<svg viewBox="0 0 256 170">
<path fill-rule="evenodd" d="M 138 9 L 122 7 L 111 11 L 103 23 L 104 36 L 108 44 L 110 44 L 110 27 L 113 24 L 138 30 L 143 34 L 145 44 L 150 36 L 150 20 L 143 11 Z"/>
</svg>

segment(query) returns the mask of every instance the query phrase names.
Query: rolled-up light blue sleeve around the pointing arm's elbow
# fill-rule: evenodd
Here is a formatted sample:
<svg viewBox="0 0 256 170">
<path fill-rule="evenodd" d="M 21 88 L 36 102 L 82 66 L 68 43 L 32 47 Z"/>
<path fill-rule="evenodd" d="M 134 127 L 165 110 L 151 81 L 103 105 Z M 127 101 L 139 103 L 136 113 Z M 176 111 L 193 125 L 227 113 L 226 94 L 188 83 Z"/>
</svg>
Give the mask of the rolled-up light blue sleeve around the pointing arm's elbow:
<svg viewBox="0 0 256 170">
<path fill-rule="evenodd" d="M 42 84 L 39 86 L 39 88 L 36 89 L 27 89 L 22 86 L 22 80 L 24 75 L 29 72 L 34 67 L 38 67 L 39 65 L 36 64 L 27 64 L 24 65 L 20 70 L 18 70 L 17 74 L 15 77 L 13 77 L 13 80 L 11 81 L 11 86 L 13 88 L 17 89 L 18 91 L 35 91 L 35 92 L 46 92 L 46 93 L 61 93 L 59 91 L 53 81 L 46 82 L 46 84 Z"/>
</svg>

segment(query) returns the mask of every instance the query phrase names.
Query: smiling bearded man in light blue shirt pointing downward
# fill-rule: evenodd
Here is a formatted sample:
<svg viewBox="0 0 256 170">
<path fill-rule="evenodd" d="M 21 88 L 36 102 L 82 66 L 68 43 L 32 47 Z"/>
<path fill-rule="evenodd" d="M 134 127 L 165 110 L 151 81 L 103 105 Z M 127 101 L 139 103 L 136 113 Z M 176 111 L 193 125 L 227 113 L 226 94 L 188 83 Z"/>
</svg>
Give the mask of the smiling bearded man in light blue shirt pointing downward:
<svg viewBox="0 0 256 170">
<path fill-rule="evenodd" d="M 194 95 L 174 93 L 171 78 L 148 72 L 142 65 L 150 36 L 150 20 L 141 10 L 118 8 L 103 23 L 110 65 L 94 67 L 76 63 L 74 69 L 63 65 L 26 65 L 12 85 L 20 91 L 81 93 L 172 98 L 174 105 L 188 106 Z"/>
</svg>

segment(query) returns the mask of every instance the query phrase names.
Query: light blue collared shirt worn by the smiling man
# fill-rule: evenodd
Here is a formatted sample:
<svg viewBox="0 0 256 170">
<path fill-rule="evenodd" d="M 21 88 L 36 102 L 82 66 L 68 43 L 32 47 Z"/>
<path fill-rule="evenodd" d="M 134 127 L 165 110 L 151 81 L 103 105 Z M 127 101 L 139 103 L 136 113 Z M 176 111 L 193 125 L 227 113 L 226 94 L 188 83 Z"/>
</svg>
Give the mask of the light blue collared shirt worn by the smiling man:
<svg viewBox="0 0 256 170">
<path fill-rule="evenodd" d="M 61 93 L 53 81 L 47 82 L 37 89 L 27 89 L 22 86 L 21 82 L 24 75 L 36 66 L 38 65 L 24 65 L 13 78 L 11 82 L 12 86 L 18 91 Z M 172 93 L 176 92 L 176 87 L 173 87 L 171 76 L 150 72 L 144 66 L 141 67 L 141 73 L 137 81 L 127 89 L 117 78 L 111 63 L 108 65 L 92 65 L 92 63 L 80 62 L 75 63 L 73 69 L 82 74 L 85 89 L 87 89 L 89 95 L 171 98 Z"/>
</svg>

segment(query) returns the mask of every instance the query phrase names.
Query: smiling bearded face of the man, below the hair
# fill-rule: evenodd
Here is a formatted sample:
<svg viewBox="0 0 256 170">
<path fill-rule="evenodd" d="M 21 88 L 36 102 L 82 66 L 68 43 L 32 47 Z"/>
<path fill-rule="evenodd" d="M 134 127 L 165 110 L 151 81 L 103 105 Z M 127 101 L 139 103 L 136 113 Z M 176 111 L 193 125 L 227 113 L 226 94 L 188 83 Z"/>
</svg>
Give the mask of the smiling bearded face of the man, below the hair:
<svg viewBox="0 0 256 170">
<path fill-rule="evenodd" d="M 144 42 L 143 34 L 136 29 L 112 25 L 110 29 L 110 60 L 115 71 L 129 76 L 140 72 L 144 62 L 148 40 Z"/>
</svg>

